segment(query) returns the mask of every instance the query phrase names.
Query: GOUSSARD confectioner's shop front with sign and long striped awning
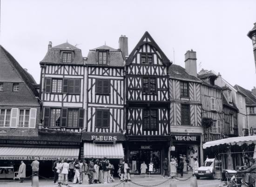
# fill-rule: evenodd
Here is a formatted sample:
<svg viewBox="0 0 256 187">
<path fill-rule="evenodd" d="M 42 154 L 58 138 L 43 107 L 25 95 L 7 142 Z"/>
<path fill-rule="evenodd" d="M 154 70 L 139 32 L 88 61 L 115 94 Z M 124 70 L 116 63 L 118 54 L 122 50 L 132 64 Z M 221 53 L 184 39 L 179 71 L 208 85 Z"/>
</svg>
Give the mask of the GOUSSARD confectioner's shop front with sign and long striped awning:
<svg viewBox="0 0 256 187">
<path fill-rule="evenodd" d="M 18 171 L 20 161 L 26 164 L 26 175 L 32 174 L 30 164 L 37 157 L 39 174 L 53 177 L 52 166 L 58 158 L 78 159 L 81 135 L 44 133 L 36 137 L 0 136 L 0 167 L 13 167 Z"/>
</svg>

